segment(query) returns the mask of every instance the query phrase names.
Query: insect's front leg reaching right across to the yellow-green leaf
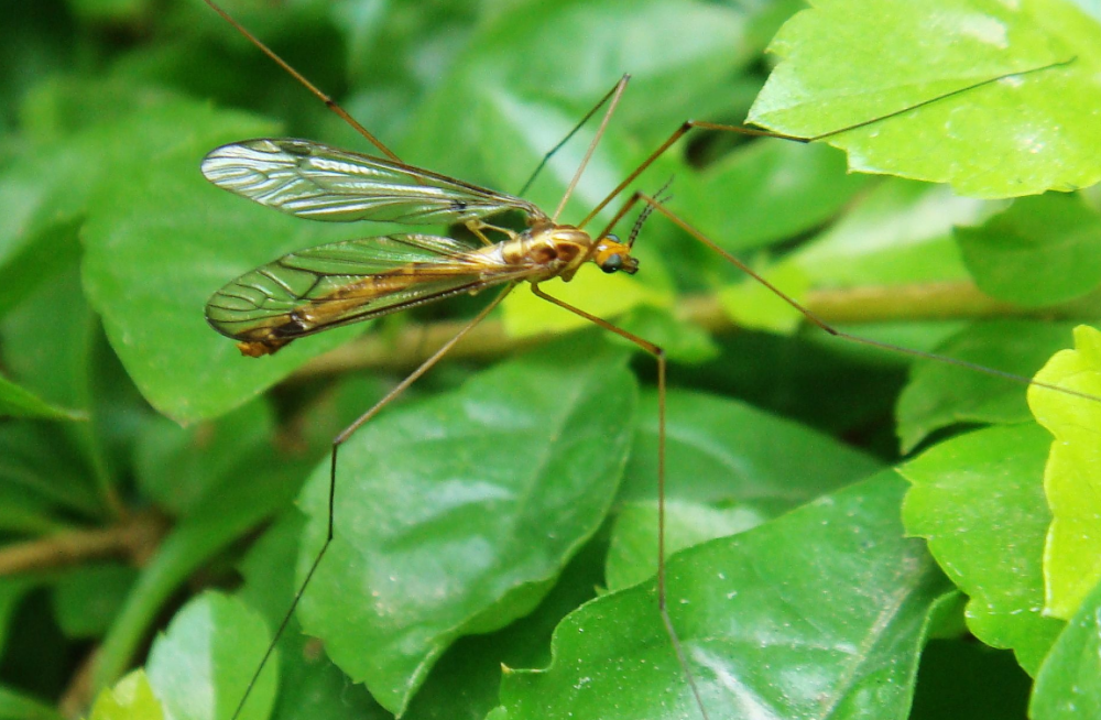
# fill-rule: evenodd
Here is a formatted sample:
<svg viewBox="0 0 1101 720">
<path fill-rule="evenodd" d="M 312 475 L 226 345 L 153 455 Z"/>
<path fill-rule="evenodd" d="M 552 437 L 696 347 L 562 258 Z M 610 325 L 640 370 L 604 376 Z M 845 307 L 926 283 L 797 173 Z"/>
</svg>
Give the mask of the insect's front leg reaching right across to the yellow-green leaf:
<svg viewBox="0 0 1101 720">
<path fill-rule="evenodd" d="M 1032 378 L 1025 378 L 1024 375 L 1017 375 L 1017 374 L 1014 374 L 1012 372 L 1005 372 L 1005 371 L 1002 371 L 1002 370 L 995 370 L 994 368 L 988 368 L 985 366 L 981 366 L 981 364 L 978 364 L 975 362 L 968 362 L 967 360 L 960 360 L 958 358 L 951 358 L 949 356 L 937 354 L 936 352 L 925 352 L 923 350 L 914 350 L 912 348 L 904 348 L 904 347 L 902 347 L 900 345 L 892 345 L 890 342 L 881 342 L 880 340 L 872 340 L 871 338 L 864 338 L 864 337 L 861 337 L 859 335 L 852 335 L 850 332 L 846 332 L 844 330 L 839 330 L 838 328 L 833 327 L 832 325 L 830 325 L 826 320 L 821 319 L 815 313 L 810 312 L 807 307 L 805 307 L 804 305 L 802 305 L 794 297 L 792 297 L 791 295 L 788 295 L 787 293 L 785 293 L 784 291 L 782 291 L 781 288 L 776 287 L 774 284 L 772 284 L 771 282 L 768 282 L 765 277 L 763 277 L 760 273 L 755 272 L 752 268 L 750 268 L 749 265 L 746 265 L 745 263 L 743 263 L 741 260 L 739 260 L 734 255 L 730 254 L 729 252 L 727 252 L 726 250 L 723 250 L 722 248 L 720 248 L 718 244 L 715 243 L 713 240 L 711 240 L 710 238 L 708 238 L 707 236 L 705 236 L 702 232 L 700 232 L 696 228 L 694 228 L 690 225 L 688 225 L 688 222 L 686 222 L 685 220 L 683 220 L 675 212 L 673 212 L 672 210 L 669 210 L 668 208 L 666 208 L 664 205 L 662 205 L 658 200 L 655 200 L 653 197 L 646 195 L 645 193 L 634 193 L 626 200 L 626 203 L 623 204 L 623 207 L 620 208 L 619 212 L 615 214 L 615 217 L 613 217 L 612 220 L 611 220 L 611 222 L 608 223 L 608 226 L 604 228 L 603 232 L 601 234 L 597 236 L 597 237 L 601 237 L 602 238 L 606 234 L 608 234 L 611 231 L 611 229 L 615 226 L 615 223 L 619 222 L 620 220 L 622 220 L 623 217 L 628 212 L 631 211 L 631 208 L 633 208 L 639 203 L 645 203 L 648 207 L 654 208 L 657 212 L 661 212 L 662 215 L 664 215 L 665 217 L 667 217 L 678 228 L 680 228 L 682 230 L 684 230 L 685 232 L 687 232 L 688 234 L 690 234 L 693 238 L 695 238 L 699 242 L 704 243 L 705 246 L 707 246 L 708 248 L 710 248 L 711 250 L 713 250 L 718 254 L 722 255 L 722 258 L 727 262 L 729 262 L 730 264 L 734 265 L 735 268 L 738 268 L 739 270 L 741 270 L 743 273 L 745 273 L 746 275 L 749 275 L 750 277 L 752 277 L 756 282 L 759 282 L 762 285 L 764 285 L 765 287 L 767 287 L 770 291 L 772 291 L 776 295 L 776 297 L 778 297 L 780 299 L 782 299 L 785 303 L 787 303 L 788 305 L 791 305 L 793 308 L 795 308 L 796 310 L 798 310 L 805 318 L 807 318 L 807 320 L 809 320 L 811 324 L 816 325 L 822 331 L 828 332 L 829 335 L 832 335 L 833 337 L 838 337 L 838 338 L 841 338 L 841 339 L 844 339 L 844 340 L 849 340 L 850 342 L 855 342 L 858 345 L 863 345 L 863 346 L 868 346 L 868 347 L 872 347 L 872 348 L 879 348 L 880 350 L 890 350 L 892 352 L 900 352 L 902 354 L 908 354 L 908 356 L 915 357 L 915 358 L 924 358 L 926 360 L 935 360 L 937 362 L 942 362 L 945 364 L 956 366 L 958 368 L 966 368 L 967 370 L 971 370 L 973 372 L 979 372 L 979 373 L 982 373 L 984 375 L 991 375 L 991 377 L 994 377 L 994 378 L 1002 378 L 1003 380 L 1009 380 L 1011 382 L 1015 382 L 1015 383 L 1018 383 L 1018 384 L 1022 384 L 1022 385 L 1035 385 L 1036 388 L 1044 388 L 1046 390 L 1054 390 L 1056 392 L 1060 392 L 1060 393 L 1064 393 L 1064 394 L 1067 394 L 1067 395 L 1073 395 L 1076 397 L 1081 397 L 1083 400 L 1089 400 L 1089 401 L 1093 401 L 1093 402 L 1101 402 L 1101 397 L 1097 397 L 1094 395 L 1090 395 L 1089 393 L 1079 392 L 1077 390 L 1071 390 L 1069 388 L 1060 388 L 1058 385 L 1053 385 L 1050 383 L 1045 383 L 1045 382 L 1039 382 L 1039 381 L 1033 380 Z"/>
</svg>

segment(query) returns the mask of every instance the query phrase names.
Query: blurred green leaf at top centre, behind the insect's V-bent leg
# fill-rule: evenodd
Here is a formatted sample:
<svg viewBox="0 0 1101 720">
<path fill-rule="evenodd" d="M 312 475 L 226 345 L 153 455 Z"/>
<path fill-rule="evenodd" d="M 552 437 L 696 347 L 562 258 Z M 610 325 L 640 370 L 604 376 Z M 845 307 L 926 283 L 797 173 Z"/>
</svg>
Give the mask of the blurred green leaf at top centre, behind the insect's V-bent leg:
<svg viewBox="0 0 1101 720">
<path fill-rule="evenodd" d="M 726 98 L 715 88 L 729 84 L 731 70 L 748 63 L 751 46 L 743 40 L 753 20 L 752 11 L 661 0 L 635 2 L 629 13 L 613 0 L 544 0 L 510 8 L 469 39 L 467 52 L 417 113 L 403 155 L 515 192 L 543 154 L 626 72 L 633 79 L 617 120 L 620 127 L 647 129 L 647 145 L 656 146 L 685 119 L 686 106 L 699 112 L 722 107 Z M 571 43 L 571 52 L 547 52 L 562 42 L 563 29 L 571 29 L 579 42 Z M 631 42 L 624 42 L 628 37 Z M 655 97 L 662 101 L 646 100 Z M 514 108 L 526 112 L 509 111 Z M 493 129 L 489 135 L 487 123 Z M 609 133 L 613 143 L 614 134 Z M 531 199 L 557 204 L 589 137 L 579 134 L 552 161 Z M 578 207 L 591 207 L 637 162 L 609 150 L 598 151 L 582 178 Z"/>
</svg>

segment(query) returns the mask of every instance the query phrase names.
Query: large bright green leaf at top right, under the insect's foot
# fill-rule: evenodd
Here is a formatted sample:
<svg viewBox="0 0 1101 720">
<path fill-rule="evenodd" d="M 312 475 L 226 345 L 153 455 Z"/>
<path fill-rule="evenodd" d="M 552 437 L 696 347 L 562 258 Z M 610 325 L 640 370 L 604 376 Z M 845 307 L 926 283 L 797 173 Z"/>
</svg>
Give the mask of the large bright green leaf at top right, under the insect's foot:
<svg viewBox="0 0 1101 720">
<path fill-rule="evenodd" d="M 803 138 L 866 123 L 827 139 L 851 170 L 963 195 L 1087 187 L 1101 179 L 1099 44 L 1097 21 L 1060 0 L 821 0 L 773 40 L 783 61 L 750 122 Z"/>
</svg>

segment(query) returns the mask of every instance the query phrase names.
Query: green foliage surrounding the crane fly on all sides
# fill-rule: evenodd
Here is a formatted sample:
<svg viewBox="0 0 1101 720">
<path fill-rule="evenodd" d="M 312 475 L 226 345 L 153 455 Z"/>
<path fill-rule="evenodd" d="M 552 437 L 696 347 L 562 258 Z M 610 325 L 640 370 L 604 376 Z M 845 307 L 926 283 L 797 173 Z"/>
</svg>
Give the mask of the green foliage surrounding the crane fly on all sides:
<svg viewBox="0 0 1101 720">
<path fill-rule="evenodd" d="M 785 25 L 788 63 L 753 117 L 811 135 L 1059 64 L 839 142 L 853 166 L 983 198 L 1097 181 L 1088 4 L 912 6 L 822 2 Z M 685 118 L 741 121 L 802 7 L 231 9 L 408 162 L 505 192 L 631 72 L 577 221 Z M 369 146 L 199 2 L 21 3 L 0 34 L 0 713 L 79 712 L 108 688 L 99 717 L 228 718 L 317 545 L 331 437 L 484 299 L 240 358 L 203 320 L 211 292 L 386 228 L 279 216 L 210 187 L 198 161 L 273 134 Z M 589 133 L 533 200 L 555 206 Z M 639 187 L 674 177 L 672 209 L 876 339 L 1031 375 L 1095 316 L 1095 189 L 980 200 L 846 162 L 698 134 Z M 942 364 L 907 377 L 911 358 L 804 327 L 659 218 L 636 250 L 637 276 L 555 292 L 673 360 L 669 544 L 691 549 L 669 563 L 671 599 L 712 718 L 1099 702 L 1095 683 L 1070 691 L 1095 677 L 1097 554 L 1088 519 L 1059 512 L 1089 506 L 1088 451 L 1045 470 L 1050 435 L 1022 388 Z M 653 362 L 571 323 L 516 293 L 349 444 L 337 545 L 242 717 L 697 712 L 650 579 Z M 1091 342 L 1079 331 L 1050 382 L 1101 394 Z M 1044 403 L 1045 426 L 1090 445 L 1088 402 Z M 903 505 L 887 468 L 915 448 Z M 511 669 L 550 664 L 556 626 L 550 672 Z"/>
</svg>

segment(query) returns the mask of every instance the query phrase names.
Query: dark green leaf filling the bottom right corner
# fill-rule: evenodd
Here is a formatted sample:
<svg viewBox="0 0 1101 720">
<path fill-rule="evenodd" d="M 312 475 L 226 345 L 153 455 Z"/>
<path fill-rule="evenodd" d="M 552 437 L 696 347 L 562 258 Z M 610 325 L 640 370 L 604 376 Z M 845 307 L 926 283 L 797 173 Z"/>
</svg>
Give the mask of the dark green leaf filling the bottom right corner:
<svg viewBox="0 0 1101 720">
<path fill-rule="evenodd" d="M 1051 647 L 1028 706 L 1034 720 L 1076 720 L 1101 716 L 1101 586 L 1083 599 Z"/>
</svg>

